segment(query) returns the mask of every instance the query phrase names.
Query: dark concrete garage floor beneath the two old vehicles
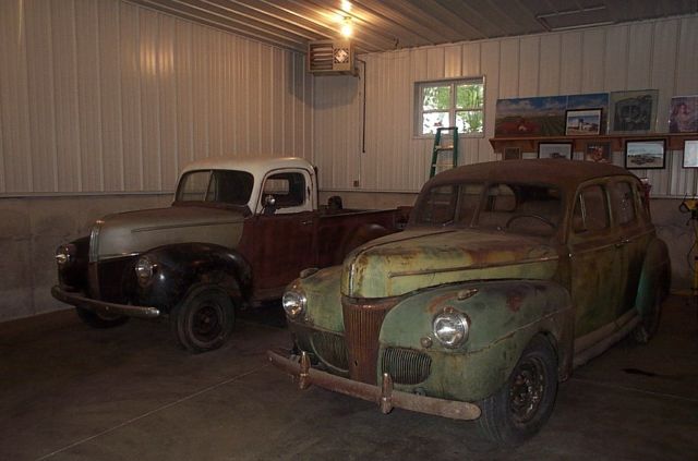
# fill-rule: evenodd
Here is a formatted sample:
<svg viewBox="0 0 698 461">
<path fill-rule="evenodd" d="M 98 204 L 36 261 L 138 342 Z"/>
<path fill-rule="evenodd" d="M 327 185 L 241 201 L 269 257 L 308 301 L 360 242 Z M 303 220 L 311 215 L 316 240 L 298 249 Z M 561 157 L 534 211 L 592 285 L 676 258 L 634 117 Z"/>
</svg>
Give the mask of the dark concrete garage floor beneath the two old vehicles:
<svg viewBox="0 0 698 461">
<path fill-rule="evenodd" d="M 68 311 L 0 324 L 0 460 L 698 459 L 688 298 L 670 298 L 649 345 L 624 341 L 578 368 L 543 430 L 508 451 L 472 423 L 297 390 L 265 362 L 289 344 L 280 318 L 248 315 L 202 355 L 158 323 L 93 330 Z"/>
</svg>

